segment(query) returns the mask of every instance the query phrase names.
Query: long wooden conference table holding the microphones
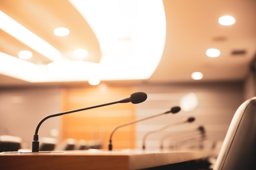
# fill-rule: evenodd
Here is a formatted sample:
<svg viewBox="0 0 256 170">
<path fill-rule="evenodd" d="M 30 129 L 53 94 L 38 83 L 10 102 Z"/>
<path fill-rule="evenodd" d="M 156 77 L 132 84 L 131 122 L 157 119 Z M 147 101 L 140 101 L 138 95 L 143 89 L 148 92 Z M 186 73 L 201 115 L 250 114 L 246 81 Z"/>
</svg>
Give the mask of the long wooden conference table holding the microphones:
<svg viewBox="0 0 256 170">
<path fill-rule="evenodd" d="M 0 170 L 139 170 L 204 158 L 209 151 L 72 150 L 0 153 Z"/>
</svg>

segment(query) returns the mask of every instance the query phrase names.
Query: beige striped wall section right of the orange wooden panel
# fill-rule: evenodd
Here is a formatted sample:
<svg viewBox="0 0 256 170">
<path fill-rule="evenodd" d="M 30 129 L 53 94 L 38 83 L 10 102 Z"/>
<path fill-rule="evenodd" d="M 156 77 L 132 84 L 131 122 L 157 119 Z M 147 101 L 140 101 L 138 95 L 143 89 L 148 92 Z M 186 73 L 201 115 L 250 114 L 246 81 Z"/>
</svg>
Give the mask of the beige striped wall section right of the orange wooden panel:
<svg viewBox="0 0 256 170">
<path fill-rule="evenodd" d="M 186 120 L 191 116 L 195 117 L 193 123 L 186 123 L 182 126 L 168 128 L 149 135 L 146 138 L 146 147 L 158 148 L 159 139 L 166 133 L 175 131 L 188 132 L 200 125 L 204 126 L 206 130 L 209 144 L 211 144 L 211 141 L 221 141 L 226 135 L 236 109 L 243 102 L 243 84 L 236 82 L 171 85 L 145 84 L 139 86 L 138 90 L 147 93 L 148 99 L 137 105 L 137 118 L 162 113 L 173 106 L 179 106 L 181 97 L 186 93 L 195 93 L 199 101 L 198 107 L 191 112 L 181 110 L 177 114 L 162 115 L 138 123 L 137 146 L 139 148 L 142 147 L 142 139 L 146 132 L 157 130 L 180 120 Z"/>
</svg>

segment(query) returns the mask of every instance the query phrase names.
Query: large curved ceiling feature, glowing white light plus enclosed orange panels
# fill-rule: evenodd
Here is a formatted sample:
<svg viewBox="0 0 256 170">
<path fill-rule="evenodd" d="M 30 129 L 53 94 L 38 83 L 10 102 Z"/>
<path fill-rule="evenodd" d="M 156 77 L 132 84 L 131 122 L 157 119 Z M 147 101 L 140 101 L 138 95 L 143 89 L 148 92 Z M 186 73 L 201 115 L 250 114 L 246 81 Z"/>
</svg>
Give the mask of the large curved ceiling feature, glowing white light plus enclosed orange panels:
<svg viewBox="0 0 256 170">
<path fill-rule="evenodd" d="M 161 0 L 1 0 L 0 23 L 0 74 L 33 83 L 148 79 L 166 35 Z M 20 60 L 21 49 L 34 57 Z"/>
</svg>

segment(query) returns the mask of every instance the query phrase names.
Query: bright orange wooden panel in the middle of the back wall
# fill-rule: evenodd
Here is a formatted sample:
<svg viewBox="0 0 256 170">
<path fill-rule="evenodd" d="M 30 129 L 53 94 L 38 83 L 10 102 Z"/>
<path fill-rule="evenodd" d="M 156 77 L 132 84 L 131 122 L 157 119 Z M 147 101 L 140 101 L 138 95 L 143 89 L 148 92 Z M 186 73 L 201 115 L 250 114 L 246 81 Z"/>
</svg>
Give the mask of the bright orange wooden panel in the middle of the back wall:
<svg viewBox="0 0 256 170">
<path fill-rule="evenodd" d="M 134 92 L 137 92 L 136 88 L 130 86 L 65 87 L 63 111 L 115 102 Z M 99 140 L 106 149 L 112 130 L 134 120 L 135 112 L 135 104 L 121 103 L 63 115 L 61 138 Z M 113 149 L 135 148 L 135 130 L 135 125 L 118 129 L 112 137 Z"/>
</svg>

